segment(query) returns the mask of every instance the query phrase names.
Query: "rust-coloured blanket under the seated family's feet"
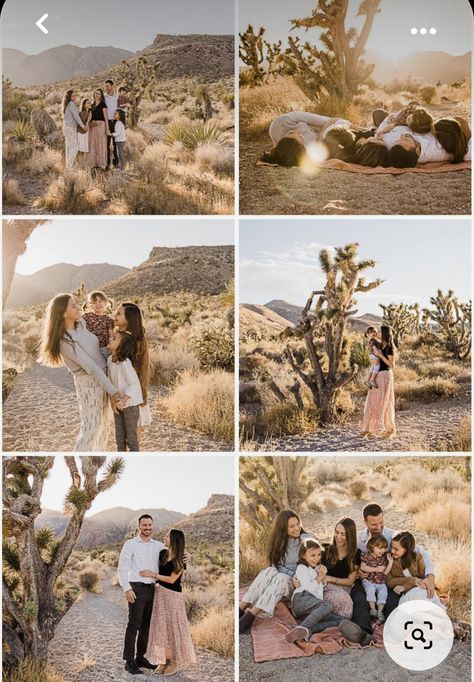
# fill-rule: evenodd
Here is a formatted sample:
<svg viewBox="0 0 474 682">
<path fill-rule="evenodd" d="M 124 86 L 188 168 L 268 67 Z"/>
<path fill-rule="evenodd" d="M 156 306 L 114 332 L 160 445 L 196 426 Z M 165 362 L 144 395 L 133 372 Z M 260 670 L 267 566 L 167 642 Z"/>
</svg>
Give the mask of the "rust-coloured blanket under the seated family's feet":
<svg viewBox="0 0 474 682">
<path fill-rule="evenodd" d="M 348 642 L 338 628 L 327 628 L 324 632 L 313 635 L 309 642 L 290 644 L 285 636 L 297 625 L 297 621 L 284 602 L 279 602 L 273 618 L 256 618 L 251 635 L 253 653 L 256 663 L 277 661 L 283 658 L 301 658 L 313 654 L 337 654 L 343 647 L 363 649 L 360 644 Z M 383 648 L 383 625 L 375 623 L 373 627 L 374 642 L 368 646 Z"/>
</svg>

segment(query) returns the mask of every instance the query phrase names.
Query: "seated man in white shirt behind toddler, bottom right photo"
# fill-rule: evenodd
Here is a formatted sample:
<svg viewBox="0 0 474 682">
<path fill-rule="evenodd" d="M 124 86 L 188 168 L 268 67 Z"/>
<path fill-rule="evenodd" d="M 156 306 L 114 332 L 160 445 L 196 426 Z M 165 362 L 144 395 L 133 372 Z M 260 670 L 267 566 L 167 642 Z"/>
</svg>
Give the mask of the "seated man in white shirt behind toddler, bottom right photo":
<svg viewBox="0 0 474 682">
<path fill-rule="evenodd" d="M 383 535 L 389 543 L 387 551 L 390 551 L 392 537 L 397 531 L 393 530 L 392 528 L 385 528 L 382 507 L 376 503 L 366 504 L 362 510 L 362 514 L 364 517 L 365 529 L 358 533 L 357 548 L 361 552 L 366 552 L 367 540 L 369 537 L 372 537 L 373 535 Z M 430 598 L 434 595 L 435 591 L 433 561 L 431 559 L 430 553 L 422 545 L 417 545 L 415 549 L 417 552 L 420 552 L 425 562 L 426 576 L 423 582 L 425 583 L 427 595 Z M 357 625 L 360 625 L 363 630 L 370 633 L 372 632 L 372 626 L 370 624 L 369 604 L 367 602 L 367 595 L 362 585 L 362 580 L 366 577 L 367 574 L 359 569 L 357 574 L 358 579 L 355 581 L 351 590 L 351 599 L 354 604 L 352 620 L 354 623 L 357 623 Z M 400 595 L 395 594 L 393 590 L 389 589 L 387 604 L 385 605 L 384 609 L 386 618 L 388 618 L 390 613 L 397 608 L 399 599 Z"/>
</svg>

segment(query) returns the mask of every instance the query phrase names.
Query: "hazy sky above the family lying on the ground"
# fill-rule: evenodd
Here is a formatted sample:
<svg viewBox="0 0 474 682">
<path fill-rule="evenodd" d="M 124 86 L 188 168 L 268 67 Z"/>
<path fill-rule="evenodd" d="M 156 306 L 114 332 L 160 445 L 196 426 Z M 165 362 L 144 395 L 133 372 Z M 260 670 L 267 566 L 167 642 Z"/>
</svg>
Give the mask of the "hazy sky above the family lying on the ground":
<svg viewBox="0 0 474 682">
<path fill-rule="evenodd" d="M 360 28 L 363 17 L 357 17 L 360 0 L 349 0 L 346 26 Z M 239 0 L 239 31 L 250 23 L 255 30 L 264 26 L 270 42 L 282 40 L 286 45 L 290 29 L 289 19 L 310 17 L 316 0 Z M 470 48 L 472 10 L 468 0 L 382 0 L 366 49 L 376 50 L 389 58 L 398 58 L 418 50 L 441 50 L 461 55 Z M 411 28 L 428 29 L 426 35 L 411 35 Z M 429 34 L 436 28 L 436 35 Z M 291 31 L 302 40 L 315 40 L 319 29 Z"/>
</svg>

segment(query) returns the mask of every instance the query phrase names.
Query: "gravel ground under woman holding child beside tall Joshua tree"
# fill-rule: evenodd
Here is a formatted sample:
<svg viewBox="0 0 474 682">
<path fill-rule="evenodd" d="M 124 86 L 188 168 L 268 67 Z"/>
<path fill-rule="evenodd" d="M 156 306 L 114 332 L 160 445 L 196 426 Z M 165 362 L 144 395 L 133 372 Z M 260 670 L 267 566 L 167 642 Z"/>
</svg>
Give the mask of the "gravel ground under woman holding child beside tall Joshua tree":
<svg viewBox="0 0 474 682">
<path fill-rule="evenodd" d="M 470 414 L 470 391 L 463 387 L 461 395 L 434 403 L 411 403 L 396 415 L 397 435 L 391 440 L 361 438 L 361 417 L 357 421 L 296 436 L 274 438 L 259 445 L 258 450 L 290 452 L 430 452 L 445 450 L 461 419 Z"/>
</svg>

